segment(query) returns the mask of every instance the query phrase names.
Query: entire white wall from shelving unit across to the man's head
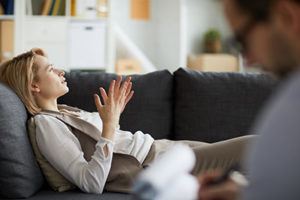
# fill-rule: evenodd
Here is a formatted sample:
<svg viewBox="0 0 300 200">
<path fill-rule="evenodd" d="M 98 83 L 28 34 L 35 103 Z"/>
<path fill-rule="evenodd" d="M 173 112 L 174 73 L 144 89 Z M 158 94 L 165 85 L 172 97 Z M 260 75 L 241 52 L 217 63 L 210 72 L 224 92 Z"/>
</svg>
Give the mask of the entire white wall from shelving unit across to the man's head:
<svg viewBox="0 0 300 200">
<path fill-rule="evenodd" d="M 185 67 L 187 55 L 201 53 L 209 28 L 230 34 L 220 0 L 150 0 L 150 20 L 130 19 L 130 0 L 113 2 L 115 21 L 157 69 Z"/>
</svg>

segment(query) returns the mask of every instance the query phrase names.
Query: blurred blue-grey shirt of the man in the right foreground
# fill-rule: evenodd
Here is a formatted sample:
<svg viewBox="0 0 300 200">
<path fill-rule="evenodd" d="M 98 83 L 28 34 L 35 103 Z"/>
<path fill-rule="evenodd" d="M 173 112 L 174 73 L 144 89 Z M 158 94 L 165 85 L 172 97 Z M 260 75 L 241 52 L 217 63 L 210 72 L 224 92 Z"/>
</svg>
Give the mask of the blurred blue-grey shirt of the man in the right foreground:
<svg viewBox="0 0 300 200">
<path fill-rule="evenodd" d="M 258 121 L 249 154 L 251 184 L 245 199 L 299 199 L 300 72 L 290 75 Z M 277 188 L 274 190 L 274 188 Z"/>
</svg>

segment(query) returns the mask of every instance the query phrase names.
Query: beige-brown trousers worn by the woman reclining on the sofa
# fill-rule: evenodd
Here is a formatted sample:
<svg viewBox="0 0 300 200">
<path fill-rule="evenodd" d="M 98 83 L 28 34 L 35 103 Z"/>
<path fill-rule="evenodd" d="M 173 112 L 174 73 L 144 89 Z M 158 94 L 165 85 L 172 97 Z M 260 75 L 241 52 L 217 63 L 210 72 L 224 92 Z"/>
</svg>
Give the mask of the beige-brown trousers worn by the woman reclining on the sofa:
<svg viewBox="0 0 300 200">
<path fill-rule="evenodd" d="M 192 174 L 198 175 L 211 169 L 227 169 L 233 164 L 241 163 L 244 152 L 254 136 L 243 136 L 216 143 L 197 141 L 155 140 L 145 161 L 140 164 L 136 158 L 114 154 L 105 190 L 110 192 L 131 193 L 131 186 L 136 176 L 144 167 L 151 165 L 161 154 L 178 143 L 190 146 L 196 155 L 196 165 Z M 170 166 L 172 167 L 172 166 Z"/>
</svg>

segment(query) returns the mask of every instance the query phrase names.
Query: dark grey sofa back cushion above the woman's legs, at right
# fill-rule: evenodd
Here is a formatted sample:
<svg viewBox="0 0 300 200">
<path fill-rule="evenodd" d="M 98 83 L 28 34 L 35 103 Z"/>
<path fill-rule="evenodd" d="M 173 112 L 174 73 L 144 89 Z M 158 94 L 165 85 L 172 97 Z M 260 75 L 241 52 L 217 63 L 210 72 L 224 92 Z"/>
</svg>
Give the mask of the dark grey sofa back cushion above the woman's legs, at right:
<svg viewBox="0 0 300 200">
<path fill-rule="evenodd" d="M 174 139 L 217 142 L 250 134 L 275 81 L 268 75 L 179 69 L 174 73 Z"/>
</svg>

